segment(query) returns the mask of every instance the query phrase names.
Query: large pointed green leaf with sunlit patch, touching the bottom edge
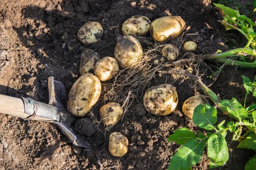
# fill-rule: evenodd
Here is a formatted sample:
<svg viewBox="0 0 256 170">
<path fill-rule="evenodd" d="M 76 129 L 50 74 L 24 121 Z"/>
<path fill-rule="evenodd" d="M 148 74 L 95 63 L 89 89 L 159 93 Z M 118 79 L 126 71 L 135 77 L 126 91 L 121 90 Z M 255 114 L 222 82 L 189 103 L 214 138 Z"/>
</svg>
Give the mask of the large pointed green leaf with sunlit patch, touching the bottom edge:
<svg viewBox="0 0 256 170">
<path fill-rule="evenodd" d="M 168 170 L 186 170 L 197 164 L 203 155 L 205 140 L 191 140 L 182 145 L 172 156 Z"/>
</svg>

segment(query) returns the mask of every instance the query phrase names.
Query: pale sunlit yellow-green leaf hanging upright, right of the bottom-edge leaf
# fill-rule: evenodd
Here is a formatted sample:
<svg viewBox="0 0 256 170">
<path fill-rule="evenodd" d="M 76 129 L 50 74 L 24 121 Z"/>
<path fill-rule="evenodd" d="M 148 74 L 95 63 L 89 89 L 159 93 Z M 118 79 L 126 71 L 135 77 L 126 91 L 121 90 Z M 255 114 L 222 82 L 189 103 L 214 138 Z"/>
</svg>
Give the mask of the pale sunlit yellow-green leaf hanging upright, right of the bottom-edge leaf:
<svg viewBox="0 0 256 170">
<path fill-rule="evenodd" d="M 225 139 L 226 132 L 212 135 L 209 137 L 207 143 L 207 156 L 210 158 L 210 169 L 226 164 L 229 158 L 228 146 Z"/>
</svg>

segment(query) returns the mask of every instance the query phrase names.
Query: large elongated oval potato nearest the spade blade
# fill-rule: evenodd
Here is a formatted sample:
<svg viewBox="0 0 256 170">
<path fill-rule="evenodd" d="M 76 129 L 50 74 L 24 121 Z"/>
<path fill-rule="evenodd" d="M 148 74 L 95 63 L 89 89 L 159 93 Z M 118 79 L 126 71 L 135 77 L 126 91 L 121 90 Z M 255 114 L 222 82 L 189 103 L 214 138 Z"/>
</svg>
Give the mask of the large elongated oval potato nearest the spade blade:
<svg viewBox="0 0 256 170">
<path fill-rule="evenodd" d="M 77 117 L 85 116 L 98 101 L 101 84 L 93 74 L 84 74 L 71 87 L 67 109 Z"/>
</svg>

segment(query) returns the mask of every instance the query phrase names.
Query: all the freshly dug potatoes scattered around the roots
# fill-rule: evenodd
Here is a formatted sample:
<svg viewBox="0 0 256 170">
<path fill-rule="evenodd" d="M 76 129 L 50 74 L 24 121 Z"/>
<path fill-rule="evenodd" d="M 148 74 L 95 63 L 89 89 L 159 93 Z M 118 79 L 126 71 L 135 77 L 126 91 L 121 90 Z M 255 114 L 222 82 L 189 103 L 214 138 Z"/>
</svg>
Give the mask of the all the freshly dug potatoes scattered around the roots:
<svg viewBox="0 0 256 170">
<path fill-rule="evenodd" d="M 153 22 L 145 16 L 133 16 L 122 24 L 124 36 L 117 42 L 114 57 L 100 56 L 97 52 L 86 49 L 80 58 L 80 77 L 71 87 L 68 111 L 77 116 L 86 116 L 98 102 L 101 93 L 101 82 L 110 81 L 119 72 L 119 69 L 129 69 L 138 64 L 143 58 L 143 49 L 136 36 L 150 34 L 158 42 L 166 42 L 181 34 L 186 28 L 185 21 L 179 16 L 167 16 L 155 19 Z M 98 22 L 85 23 L 78 31 L 78 39 L 84 45 L 97 43 L 103 35 L 103 28 Z M 186 42 L 184 50 L 194 51 L 197 44 Z M 168 61 L 175 61 L 178 49 L 167 44 L 162 48 L 162 55 Z M 153 62 L 158 65 L 158 61 Z M 143 74 L 143 73 L 142 73 Z M 202 95 L 189 98 L 183 103 L 184 114 L 192 119 L 194 108 L 199 103 L 207 101 Z M 177 107 L 178 95 L 176 87 L 163 84 L 150 87 L 143 97 L 143 105 L 148 113 L 158 116 L 171 114 Z M 117 102 L 109 102 L 101 106 L 99 116 L 105 126 L 113 126 L 123 117 L 122 106 Z M 109 152 L 113 156 L 123 156 L 128 152 L 128 139 L 119 132 L 109 136 Z"/>
</svg>

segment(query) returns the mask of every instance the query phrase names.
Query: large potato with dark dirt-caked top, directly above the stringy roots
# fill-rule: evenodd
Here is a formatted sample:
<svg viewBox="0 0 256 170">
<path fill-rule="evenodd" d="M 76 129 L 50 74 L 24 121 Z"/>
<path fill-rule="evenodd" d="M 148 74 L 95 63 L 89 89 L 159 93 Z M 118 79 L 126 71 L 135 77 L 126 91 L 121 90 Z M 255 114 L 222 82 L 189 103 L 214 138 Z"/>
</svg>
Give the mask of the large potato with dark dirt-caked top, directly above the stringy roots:
<svg viewBox="0 0 256 170">
<path fill-rule="evenodd" d="M 138 40 L 128 35 L 118 41 L 114 54 L 121 68 L 131 68 L 141 59 L 143 50 Z"/>
</svg>

